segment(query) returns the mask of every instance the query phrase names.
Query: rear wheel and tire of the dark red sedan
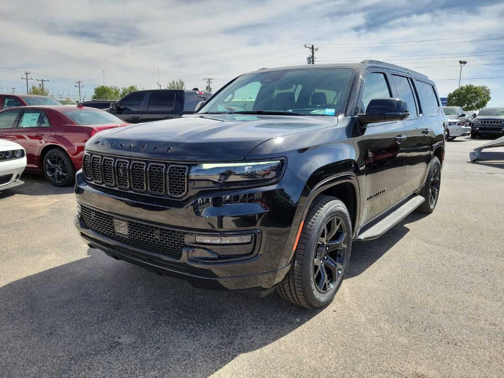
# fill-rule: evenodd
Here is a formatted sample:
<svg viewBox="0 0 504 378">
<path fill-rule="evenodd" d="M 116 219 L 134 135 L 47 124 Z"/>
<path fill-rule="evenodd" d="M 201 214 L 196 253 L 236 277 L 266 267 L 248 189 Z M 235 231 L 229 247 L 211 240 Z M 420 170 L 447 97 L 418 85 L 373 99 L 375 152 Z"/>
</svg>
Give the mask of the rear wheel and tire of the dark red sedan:
<svg viewBox="0 0 504 378">
<path fill-rule="evenodd" d="M 54 186 L 70 186 L 74 183 L 74 164 L 68 154 L 60 148 L 47 151 L 42 159 L 42 170 L 45 179 Z"/>
</svg>

